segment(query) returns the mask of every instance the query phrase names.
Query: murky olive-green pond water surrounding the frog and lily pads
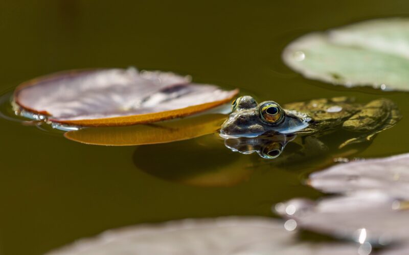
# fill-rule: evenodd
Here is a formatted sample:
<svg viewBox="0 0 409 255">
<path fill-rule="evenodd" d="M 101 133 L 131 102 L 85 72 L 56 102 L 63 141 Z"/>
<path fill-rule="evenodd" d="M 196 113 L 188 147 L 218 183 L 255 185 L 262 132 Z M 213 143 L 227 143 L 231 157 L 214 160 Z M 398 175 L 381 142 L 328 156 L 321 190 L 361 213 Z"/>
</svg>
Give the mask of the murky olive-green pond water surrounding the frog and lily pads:
<svg viewBox="0 0 409 255">
<path fill-rule="evenodd" d="M 406 1 L 2 1 L 0 90 L 65 69 L 136 66 L 191 74 L 196 82 L 279 103 L 388 97 L 403 119 L 355 157 L 390 156 L 409 151 L 409 94 L 308 81 L 280 55 L 306 32 L 406 14 Z M 103 147 L 5 119 L 0 130 L 0 254 L 41 254 L 141 222 L 274 216 L 276 202 L 321 196 L 302 184 L 316 167 L 311 162 L 272 168 L 255 154 L 230 151 L 215 135 Z M 221 179 L 224 187 L 211 187 Z"/>
</svg>

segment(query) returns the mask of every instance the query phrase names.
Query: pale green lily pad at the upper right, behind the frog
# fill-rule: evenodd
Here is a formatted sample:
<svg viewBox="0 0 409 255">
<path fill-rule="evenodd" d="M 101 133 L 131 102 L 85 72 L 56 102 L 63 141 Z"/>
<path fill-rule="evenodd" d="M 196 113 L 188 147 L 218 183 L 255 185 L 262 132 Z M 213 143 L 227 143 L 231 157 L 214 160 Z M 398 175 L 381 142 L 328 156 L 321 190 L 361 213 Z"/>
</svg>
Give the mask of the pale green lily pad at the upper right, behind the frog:
<svg viewBox="0 0 409 255">
<path fill-rule="evenodd" d="M 408 91 L 409 19 L 375 19 L 310 33 L 291 42 L 283 60 L 309 79 Z"/>
</svg>

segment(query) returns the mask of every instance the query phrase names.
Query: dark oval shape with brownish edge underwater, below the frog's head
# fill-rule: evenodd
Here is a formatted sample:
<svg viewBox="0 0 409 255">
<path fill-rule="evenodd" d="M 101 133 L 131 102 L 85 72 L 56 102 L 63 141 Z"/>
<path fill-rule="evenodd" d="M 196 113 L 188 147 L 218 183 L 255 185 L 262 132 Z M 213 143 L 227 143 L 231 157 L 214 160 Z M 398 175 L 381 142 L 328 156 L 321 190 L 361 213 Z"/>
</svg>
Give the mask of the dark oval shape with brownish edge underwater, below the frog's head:
<svg viewBox="0 0 409 255">
<path fill-rule="evenodd" d="M 133 162 L 138 169 L 160 179 L 193 186 L 232 186 L 248 179 L 253 173 L 249 158 L 226 150 L 213 136 L 139 146 Z M 152 155 L 157 160 L 152 160 Z"/>
</svg>

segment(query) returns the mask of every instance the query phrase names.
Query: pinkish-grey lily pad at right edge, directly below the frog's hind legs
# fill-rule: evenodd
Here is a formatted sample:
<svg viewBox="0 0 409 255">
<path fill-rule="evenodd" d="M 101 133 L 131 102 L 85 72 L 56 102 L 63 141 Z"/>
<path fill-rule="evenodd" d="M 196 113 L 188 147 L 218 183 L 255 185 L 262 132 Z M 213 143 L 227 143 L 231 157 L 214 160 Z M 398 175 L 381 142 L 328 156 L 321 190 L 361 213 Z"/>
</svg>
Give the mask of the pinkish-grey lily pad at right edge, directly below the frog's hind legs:
<svg viewBox="0 0 409 255">
<path fill-rule="evenodd" d="M 308 183 L 326 193 L 378 190 L 409 200 L 409 154 L 338 164 L 312 173 Z"/>
</svg>

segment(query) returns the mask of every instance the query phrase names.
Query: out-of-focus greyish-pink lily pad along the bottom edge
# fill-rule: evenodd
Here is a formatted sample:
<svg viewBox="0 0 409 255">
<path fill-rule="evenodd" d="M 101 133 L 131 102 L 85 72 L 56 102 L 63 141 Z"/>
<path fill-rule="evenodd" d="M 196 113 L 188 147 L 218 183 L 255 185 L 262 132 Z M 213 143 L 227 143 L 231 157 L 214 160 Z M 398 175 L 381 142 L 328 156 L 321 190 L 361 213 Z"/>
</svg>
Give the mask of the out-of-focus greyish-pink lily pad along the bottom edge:
<svg viewBox="0 0 409 255">
<path fill-rule="evenodd" d="M 187 219 L 111 230 L 47 254 L 357 254 L 353 244 L 297 243 L 294 234 L 261 217 Z"/>
</svg>

